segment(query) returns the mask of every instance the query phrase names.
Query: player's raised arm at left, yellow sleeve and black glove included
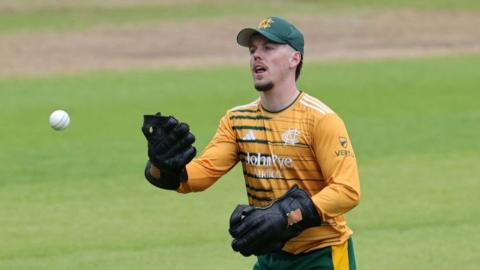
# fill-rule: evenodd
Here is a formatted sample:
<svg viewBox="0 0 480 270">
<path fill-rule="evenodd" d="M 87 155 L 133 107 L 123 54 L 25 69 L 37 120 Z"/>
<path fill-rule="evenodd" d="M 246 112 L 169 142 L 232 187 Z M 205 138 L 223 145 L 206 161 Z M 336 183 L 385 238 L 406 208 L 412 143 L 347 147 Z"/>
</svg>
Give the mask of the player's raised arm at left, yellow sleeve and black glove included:
<svg viewBox="0 0 480 270">
<path fill-rule="evenodd" d="M 228 116 L 199 158 L 188 125 L 169 116 L 146 115 L 142 131 L 148 141 L 145 177 L 154 186 L 181 193 L 202 191 L 238 162 L 238 149 Z"/>
</svg>

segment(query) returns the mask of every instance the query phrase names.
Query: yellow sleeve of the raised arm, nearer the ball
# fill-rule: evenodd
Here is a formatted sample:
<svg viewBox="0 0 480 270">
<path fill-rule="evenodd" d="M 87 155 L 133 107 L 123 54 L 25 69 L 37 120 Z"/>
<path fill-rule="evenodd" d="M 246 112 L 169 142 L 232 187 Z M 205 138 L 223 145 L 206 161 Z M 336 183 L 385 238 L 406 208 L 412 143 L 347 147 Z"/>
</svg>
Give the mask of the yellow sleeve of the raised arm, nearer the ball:
<svg viewBox="0 0 480 270">
<path fill-rule="evenodd" d="M 238 146 L 230 121 L 227 113 L 200 157 L 187 165 L 188 180 L 180 185 L 178 192 L 205 190 L 237 164 Z"/>
</svg>

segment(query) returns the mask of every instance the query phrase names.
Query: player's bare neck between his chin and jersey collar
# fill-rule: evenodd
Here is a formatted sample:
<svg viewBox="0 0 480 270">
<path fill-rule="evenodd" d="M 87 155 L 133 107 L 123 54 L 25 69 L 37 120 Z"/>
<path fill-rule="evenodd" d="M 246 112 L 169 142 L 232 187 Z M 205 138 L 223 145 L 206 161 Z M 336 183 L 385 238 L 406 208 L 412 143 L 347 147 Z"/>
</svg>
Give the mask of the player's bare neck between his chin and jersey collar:
<svg viewBox="0 0 480 270">
<path fill-rule="evenodd" d="M 269 91 L 261 92 L 260 102 L 262 107 L 271 112 L 277 112 L 285 109 L 298 96 L 300 91 L 295 83 L 284 87 L 274 87 Z"/>
</svg>

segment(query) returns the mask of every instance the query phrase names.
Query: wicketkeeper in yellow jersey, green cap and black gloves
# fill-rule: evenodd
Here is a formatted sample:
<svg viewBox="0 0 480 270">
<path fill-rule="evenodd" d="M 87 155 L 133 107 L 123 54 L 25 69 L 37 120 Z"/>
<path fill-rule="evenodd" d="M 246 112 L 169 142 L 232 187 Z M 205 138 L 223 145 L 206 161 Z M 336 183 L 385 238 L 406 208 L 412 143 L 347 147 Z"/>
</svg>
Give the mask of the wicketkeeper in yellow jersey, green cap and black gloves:
<svg viewBox="0 0 480 270">
<path fill-rule="evenodd" d="M 270 17 L 237 42 L 249 48 L 260 97 L 228 110 L 196 159 L 188 125 L 145 116 L 147 180 L 198 192 L 241 162 L 249 204 L 233 211 L 229 232 L 235 251 L 257 256 L 254 269 L 355 269 L 343 217 L 360 199 L 355 154 L 340 117 L 297 88 L 302 33 Z"/>
</svg>

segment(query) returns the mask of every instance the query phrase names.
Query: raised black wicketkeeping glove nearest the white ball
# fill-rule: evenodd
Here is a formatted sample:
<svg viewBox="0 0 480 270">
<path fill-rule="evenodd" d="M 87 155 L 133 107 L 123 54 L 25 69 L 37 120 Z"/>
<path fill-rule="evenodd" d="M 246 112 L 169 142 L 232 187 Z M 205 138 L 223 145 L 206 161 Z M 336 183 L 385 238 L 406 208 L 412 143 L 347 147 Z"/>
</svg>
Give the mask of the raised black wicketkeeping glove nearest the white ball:
<svg viewBox="0 0 480 270">
<path fill-rule="evenodd" d="M 192 144 L 195 136 L 190 133 L 187 124 L 179 122 L 173 116 L 144 115 L 142 132 L 148 142 L 150 163 L 160 169 L 160 179 L 154 179 L 147 169 L 145 176 L 157 187 L 177 189 L 180 181 L 186 181 L 185 166 L 195 157 L 197 151 Z"/>
</svg>

